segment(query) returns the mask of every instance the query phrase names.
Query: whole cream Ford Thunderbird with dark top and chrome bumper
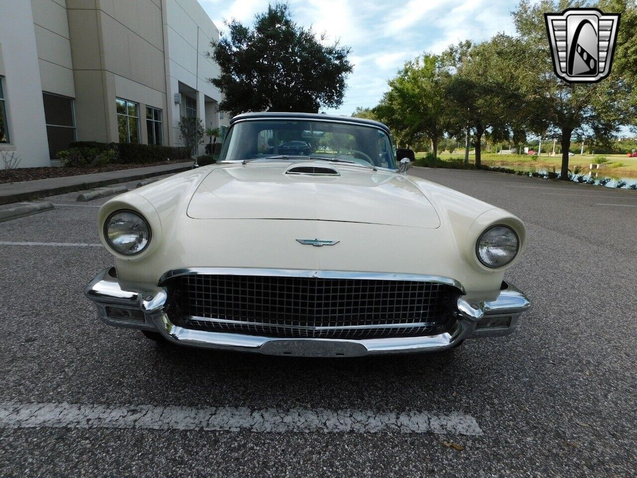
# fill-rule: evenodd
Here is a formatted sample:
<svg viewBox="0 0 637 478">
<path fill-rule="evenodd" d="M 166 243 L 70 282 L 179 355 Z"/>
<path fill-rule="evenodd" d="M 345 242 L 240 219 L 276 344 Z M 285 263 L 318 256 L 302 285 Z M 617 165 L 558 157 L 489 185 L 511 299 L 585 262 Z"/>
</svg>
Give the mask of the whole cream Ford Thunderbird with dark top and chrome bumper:
<svg viewBox="0 0 637 478">
<path fill-rule="evenodd" d="M 517 217 L 406 174 L 381 123 L 234 117 L 217 164 L 99 211 L 115 266 L 86 296 L 107 324 L 175 344 L 342 357 L 511 333 Z"/>
</svg>

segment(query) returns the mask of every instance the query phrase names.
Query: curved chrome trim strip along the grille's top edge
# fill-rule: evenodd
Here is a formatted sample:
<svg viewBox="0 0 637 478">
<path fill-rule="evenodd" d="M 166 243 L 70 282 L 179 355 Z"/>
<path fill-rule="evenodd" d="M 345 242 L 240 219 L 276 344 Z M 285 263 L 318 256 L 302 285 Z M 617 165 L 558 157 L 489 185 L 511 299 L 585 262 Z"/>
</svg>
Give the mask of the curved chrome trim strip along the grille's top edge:
<svg viewBox="0 0 637 478">
<path fill-rule="evenodd" d="M 317 277 L 319 279 L 370 279 L 370 280 L 410 280 L 415 282 L 438 282 L 452 286 L 466 294 L 460 282 L 439 275 L 403 274 L 391 272 L 353 272 L 334 270 L 304 269 L 254 269 L 243 267 L 192 267 L 173 269 L 164 273 L 158 285 L 163 286 L 168 279 L 180 275 L 261 275 L 275 277 Z"/>
</svg>

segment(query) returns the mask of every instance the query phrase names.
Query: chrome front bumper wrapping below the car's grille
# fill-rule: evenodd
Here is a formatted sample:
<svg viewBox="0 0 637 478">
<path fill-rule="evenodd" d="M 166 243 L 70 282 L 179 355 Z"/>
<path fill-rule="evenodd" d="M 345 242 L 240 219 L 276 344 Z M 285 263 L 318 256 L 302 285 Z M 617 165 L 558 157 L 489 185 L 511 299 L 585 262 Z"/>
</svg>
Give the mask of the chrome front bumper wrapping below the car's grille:
<svg viewBox="0 0 637 478">
<path fill-rule="evenodd" d="M 85 289 L 106 324 L 161 333 L 180 345 L 303 357 L 354 357 L 376 354 L 434 352 L 451 349 L 465 338 L 501 337 L 515 330 L 522 312 L 531 307 L 518 289 L 502 283 L 495 300 L 457 301 L 457 321 L 451 331 L 426 337 L 341 340 L 331 338 L 276 338 L 238 333 L 192 330 L 176 326 L 166 313 L 166 289 L 122 289 L 115 268 L 99 273 Z"/>
</svg>

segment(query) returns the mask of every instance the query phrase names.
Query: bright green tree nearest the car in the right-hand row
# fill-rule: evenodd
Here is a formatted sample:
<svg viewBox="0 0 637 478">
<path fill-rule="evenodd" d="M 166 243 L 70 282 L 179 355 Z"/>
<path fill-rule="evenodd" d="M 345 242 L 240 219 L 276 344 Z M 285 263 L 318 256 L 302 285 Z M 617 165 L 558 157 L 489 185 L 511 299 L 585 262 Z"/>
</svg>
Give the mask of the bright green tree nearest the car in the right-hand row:
<svg viewBox="0 0 637 478">
<path fill-rule="evenodd" d="M 375 113 L 392 128 L 399 142 L 412 144 L 428 138 L 435 157 L 438 141 L 450 122 L 449 80 L 450 75 L 442 68 L 437 55 L 424 54 L 408 61 L 396 78 L 389 81 L 390 89 L 376 106 Z"/>
</svg>

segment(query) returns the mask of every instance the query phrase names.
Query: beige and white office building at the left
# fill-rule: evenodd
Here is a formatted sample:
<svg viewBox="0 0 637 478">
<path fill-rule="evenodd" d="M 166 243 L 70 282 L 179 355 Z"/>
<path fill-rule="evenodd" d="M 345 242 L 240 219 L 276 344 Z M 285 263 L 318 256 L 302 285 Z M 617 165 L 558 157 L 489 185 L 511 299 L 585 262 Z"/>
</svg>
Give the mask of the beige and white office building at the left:
<svg viewBox="0 0 637 478">
<path fill-rule="evenodd" d="M 180 116 L 227 127 L 218 35 L 197 0 L 0 1 L 0 150 L 49 166 L 74 140 L 181 145 Z"/>
</svg>

